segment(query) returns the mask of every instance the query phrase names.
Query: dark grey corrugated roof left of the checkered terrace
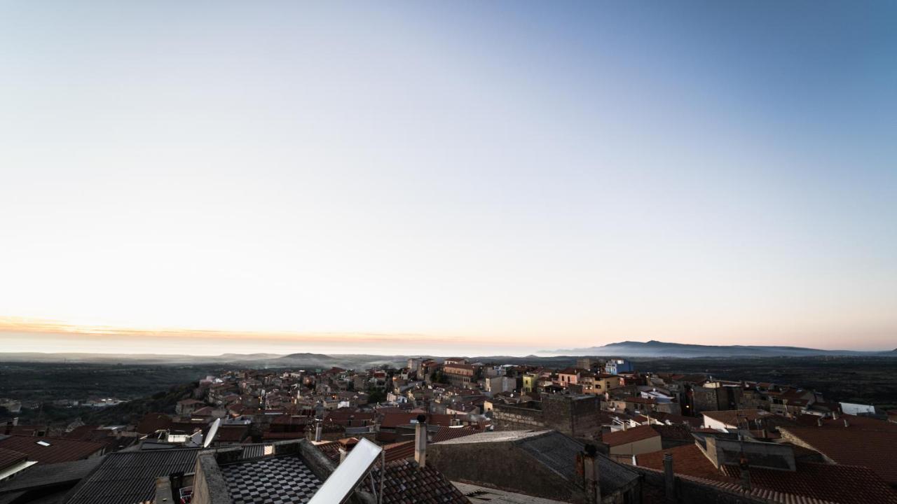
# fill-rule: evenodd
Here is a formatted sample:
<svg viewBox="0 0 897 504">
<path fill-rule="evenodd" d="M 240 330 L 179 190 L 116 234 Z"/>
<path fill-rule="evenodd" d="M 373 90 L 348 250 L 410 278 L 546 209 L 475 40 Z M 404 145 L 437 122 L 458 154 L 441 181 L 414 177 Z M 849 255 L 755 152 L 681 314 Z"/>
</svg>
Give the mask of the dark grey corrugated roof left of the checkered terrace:
<svg viewBox="0 0 897 504">
<path fill-rule="evenodd" d="M 156 478 L 192 473 L 199 448 L 119 451 L 74 488 L 65 504 L 134 504 L 153 500 Z"/>
</svg>

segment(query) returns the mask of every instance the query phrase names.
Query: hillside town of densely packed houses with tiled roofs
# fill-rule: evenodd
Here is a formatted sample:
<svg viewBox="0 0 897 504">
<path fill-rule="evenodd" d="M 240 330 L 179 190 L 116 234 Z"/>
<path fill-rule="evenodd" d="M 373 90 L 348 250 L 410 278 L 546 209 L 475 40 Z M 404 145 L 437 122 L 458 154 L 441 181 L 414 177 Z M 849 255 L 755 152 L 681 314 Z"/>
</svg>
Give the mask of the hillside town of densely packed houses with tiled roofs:
<svg viewBox="0 0 897 504">
<path fill-rule="evenodd" d="M 616 358 L 231 369 L 130 424 L 0 419 L 0 504 L 897 503 L 897 412 L 835 400 Z"/>
</svg>

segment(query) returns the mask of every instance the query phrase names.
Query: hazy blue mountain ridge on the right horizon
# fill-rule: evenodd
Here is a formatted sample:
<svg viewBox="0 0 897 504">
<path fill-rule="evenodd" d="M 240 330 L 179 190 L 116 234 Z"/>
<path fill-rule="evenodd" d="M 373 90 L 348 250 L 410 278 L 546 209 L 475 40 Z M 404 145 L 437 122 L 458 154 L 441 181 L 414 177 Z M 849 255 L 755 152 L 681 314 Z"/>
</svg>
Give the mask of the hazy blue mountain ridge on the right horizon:
<svg viewBox="0 0 897 504">
<path fill-rule="evenodd" d="M 897 351 L 895 351 L 897 352 Z M 604 346 L 551 350 L 541 353 L 562 355 L 599 355 L 619 357 L 809 357 L 830 356 L 893 356 L 895 352 L 858 352 L 855 350 L 820 350 L 799 346 L 706 345 L 649 342 L 608 343 Z"/>
</svg>

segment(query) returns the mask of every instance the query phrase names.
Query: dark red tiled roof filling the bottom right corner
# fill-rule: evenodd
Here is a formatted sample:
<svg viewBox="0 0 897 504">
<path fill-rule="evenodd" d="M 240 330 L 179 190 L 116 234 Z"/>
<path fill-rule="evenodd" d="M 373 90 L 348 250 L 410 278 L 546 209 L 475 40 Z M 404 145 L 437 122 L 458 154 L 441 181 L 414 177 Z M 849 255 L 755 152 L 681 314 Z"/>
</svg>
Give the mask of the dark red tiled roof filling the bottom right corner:
<svg viewBox="0 0 897 504">
<path fill-rule="evenodd" d="M 723 465 L 725 474 L 740 478 L 737 465 Z M 874 471 L 858 465 L 797 464 L 797 471 L 751 468 L 751 484 L 771 491 L 804 495 L 841 504 L 897 503 L 897 492 Z"/>
</svg>

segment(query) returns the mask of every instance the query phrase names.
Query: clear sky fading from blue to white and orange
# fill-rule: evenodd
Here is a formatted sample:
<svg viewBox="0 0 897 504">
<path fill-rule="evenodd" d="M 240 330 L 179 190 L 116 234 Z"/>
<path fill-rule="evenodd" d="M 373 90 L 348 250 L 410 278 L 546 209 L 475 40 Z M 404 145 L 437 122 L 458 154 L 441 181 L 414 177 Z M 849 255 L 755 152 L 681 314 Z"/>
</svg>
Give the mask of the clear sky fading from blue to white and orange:
<svg viewBox="0 0 897 504">
<path fill-rule="evenodd" d="M 4 2 L 0 351 L 897 347 L 893 2 Z"/>
</svg>

